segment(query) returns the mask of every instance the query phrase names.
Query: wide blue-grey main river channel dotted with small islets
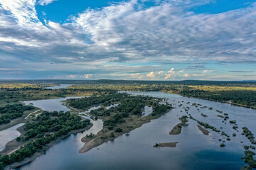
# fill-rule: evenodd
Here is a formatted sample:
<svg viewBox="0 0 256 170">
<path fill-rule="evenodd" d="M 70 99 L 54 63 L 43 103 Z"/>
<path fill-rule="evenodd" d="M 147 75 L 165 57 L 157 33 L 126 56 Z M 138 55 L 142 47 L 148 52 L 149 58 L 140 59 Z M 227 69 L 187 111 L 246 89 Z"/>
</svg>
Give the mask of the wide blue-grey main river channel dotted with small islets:
<svg viewBox="0 0 256 170">
<path fill-rule="evenodd" d="M 79 154 L 82 147 L 81 138 L 90 132 L 71 135 L 65 140 L 58 142 L 46 154 L 41 155 L 31 164 L 22 166 L 21 169 L 240 169 L 245 163 L 240 157 L 243 156 L 243 145 L 250 145 L 245 136 L 240 135 L 242 127 L 249 128 L 256 134 L 256 111 L 250 108 L 232 106 L 227 103 L 218 103 L 196 98 L 186 98 L 175 94 L 161 92 L 134 93 L 134 95 L 148 95 L 167 98 L 175 109 L 161 116 L 151 123 L 142 125 L 141 128 L 130 132 L 129 136 L 122 135 L 114 141 L 106 142 L 89 152 Z M 182 102 L 183 101 L 183 102 Z M 52 101 L 49 100 L 49 104 Z M 190 102 L 190 103 L 188 103 Z M 191 106 L 192 103 L 200 103 L 200 108 Z M 178 107 L 180 104 L 182 106 Z M 61 104 L 60 104 L 61 105 Z M 51 106 L 50 106 L 51 107 Z M 221 148 L 218 139 L 224 139 L 220 133 L 210 130 L 208 136 L 203 135 L 197 128 L 194 120 L 188 120 L 188 126 L 183 127 L 180 135 L 169 135 L 171 129 L 180 123 L 182 115 L 187 115 L 183 107 L 190 107 L 188 113 L 202 122 L 209 123 L 215 128 L 223 128 L 231 140 L 225 142 L 226 147 Z M 47 109 L 47 108 L 44 108 Z M 51 108 L 52 109 L 52 108 Z M 50 109 L 50 110 L 51 110 Z M 150 108 L 147 108 L 150 109 Z M 49 109 L 48 109 L 49 110 Z M 233 130 L 229 120 L 222 123 L 222 118 L 217 117 L 220 113 L 215 110 L 228 113 L 229 120 L 237 120 L 239 132 Z M 208 115 L 207 118 L 201 113 Z M 95 122 L 92 129 L 97 132 L 102 128 L 102 122 Z M 99 124 L 99 125 L 98 125 Z M 235 132 L 236 137 L 232 134 Z M 241 144 L 240 141 L 244 143 Z M 154 148 L 156 142 L 179 142 L 176 148 Z"/>
</svg>

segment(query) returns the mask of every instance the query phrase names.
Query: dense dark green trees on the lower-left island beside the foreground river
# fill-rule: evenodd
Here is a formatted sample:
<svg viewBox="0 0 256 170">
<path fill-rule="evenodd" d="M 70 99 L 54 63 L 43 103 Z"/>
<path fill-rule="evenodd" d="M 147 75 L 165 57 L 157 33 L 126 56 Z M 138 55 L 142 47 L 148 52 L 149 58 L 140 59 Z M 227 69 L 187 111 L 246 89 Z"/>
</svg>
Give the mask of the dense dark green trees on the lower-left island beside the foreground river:
<svg viewBox="0 0 256 170">
<path fill-rule="evenodd" d="M 40 152 L 48 143 L 62 135 L 67 135 L 72 130 L 86 128 L 90 120 L 81 120 L 80 116 L 69 112 L 46 112 L 44 111 L 31 123 L 23 126 L 25 135 L 17 137 L 17 141 L 28 141 L 21 149 L 10 155 L 0 157 L 0 169 L 14 162 L 20 162 L 31 157 L 35 152 Z"/>
</svg>

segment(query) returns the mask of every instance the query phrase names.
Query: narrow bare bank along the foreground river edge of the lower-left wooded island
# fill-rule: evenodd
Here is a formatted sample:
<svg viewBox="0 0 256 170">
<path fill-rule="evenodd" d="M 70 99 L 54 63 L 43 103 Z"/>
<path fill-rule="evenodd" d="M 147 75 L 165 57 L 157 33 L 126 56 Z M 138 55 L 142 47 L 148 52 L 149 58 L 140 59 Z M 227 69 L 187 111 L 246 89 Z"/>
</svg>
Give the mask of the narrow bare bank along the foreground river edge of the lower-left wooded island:
<svg viewBox="0 0 256 170">
<path fill-rule="evenodd" d="M 4 170 L 11 170 L 11 169 L 16 169 L 20 166 L 23 166 L 25 164 L 28 164 L 30 162 L 32 162 L 33 160 L 35 160 L 37 157 L 39 157 L 41 154 L 45 154 L 46 151 L 53 145 L 55 145 L 56 143 L 60 142 L 61 140 L 65 139 L 66 137 L 69 137 L 70 135 L 73 135 L 73 134 L 78 134 L 80 132 L 84 132 L 85 130 L 89 130 L 90 128 L 92 128 L 92 123 L 90 123 L 90 125 L 87 125 L 86 128 L 82 128 L 82 129 L 79 129 L 79 130 L 73 130 L 73 131 L 70 131 L 68 132 L 67 135 L 63 135 L 61 137 L 58 137 L 58 139 L 56 140 L 53 140 L 52 142 L 48 143 L 48 145 L 46 145 L 44 147 L 44 149 L 41 151 L 41 152 L 36 152 L 35 154 L 33 154 L 31 157 L 27 158 L 27 159 L 24 159 L 23 161 L 21 162 L 15 162 L 14 164 L 11 164 L 9 166 L 6 166 Z"/>
</svg>

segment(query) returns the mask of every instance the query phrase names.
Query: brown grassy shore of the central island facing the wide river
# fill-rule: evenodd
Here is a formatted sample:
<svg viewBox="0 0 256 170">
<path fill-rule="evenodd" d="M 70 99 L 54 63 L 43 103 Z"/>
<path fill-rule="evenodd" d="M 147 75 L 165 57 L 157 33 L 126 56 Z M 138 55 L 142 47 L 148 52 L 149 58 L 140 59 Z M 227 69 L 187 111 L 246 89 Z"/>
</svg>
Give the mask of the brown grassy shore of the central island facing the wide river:
<svg viewBox="0 0 256 170">
<path fill-rule="evenodd" d="M 168 109 L 165 113 L 169 113 L 171 109 Z M 79 152 L 85 153 L 90 149 L 98 147 L 107 141 L 116 139 L 120 135 L 129 134 L 130 131 L 141 127 L 145 123 L 150 123 L 151 120 L 157 119 L 161 115 L 164 115 L 165 113 L 162 113 L 159 115 L 150 114 L 144 117 L 142 115 L 139 118 L 137 117 L 137 115 L 133 115 L 130 118 L 126 118 L 125 123 L 122 123 L 117 127 L 117 128 L 121 128 L 122 132 L 115 132 L 114 130 L 107 130 L 107 128 L 103 128 L 103 130 L 98 132 L 97 135 L 94 135 L 92 137 L 83 137 L 82 142 L 85 142 L 85 145 L 80 149 Z"/>
</svg>

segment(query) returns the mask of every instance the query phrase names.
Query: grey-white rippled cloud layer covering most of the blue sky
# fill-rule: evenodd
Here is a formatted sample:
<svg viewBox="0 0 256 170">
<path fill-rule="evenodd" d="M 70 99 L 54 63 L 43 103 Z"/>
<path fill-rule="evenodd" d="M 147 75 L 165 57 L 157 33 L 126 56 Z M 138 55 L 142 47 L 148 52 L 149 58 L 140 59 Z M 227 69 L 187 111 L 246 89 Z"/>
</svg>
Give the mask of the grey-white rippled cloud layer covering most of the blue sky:
<svg viewBox="0 0 256 170">
<path fill-rule="evenodd" d="M 125 79 L 131 74 L 134 79 L 156 79 L 156 74 L 172 79 L 174 70 L 161 71 L 159 63 L 256 63 L 255 4 L 196 14 L 189 9 L 200 1 L 155 1 L 154 6 L 144 6 L 132 0 L 86 9 L 63 24 L 47 19 L 42 23 L 35 6 L 52 2 L 0 1 L 0 68 L 28 71 L 29 64 L 30 69 L 60 72 L 68 64 L 73 67 L 70 72 L 87 75 L 85 79 L 103 73 Z M 43 66 L 35 67 L 38 62 Z M 143 62 L 153 64 L 136 64 Z"/>
</svg>

